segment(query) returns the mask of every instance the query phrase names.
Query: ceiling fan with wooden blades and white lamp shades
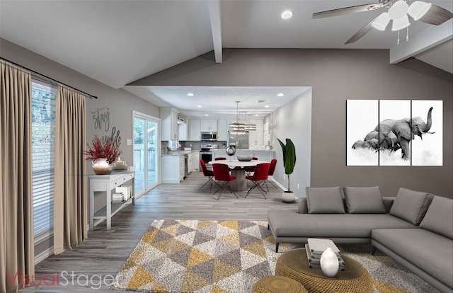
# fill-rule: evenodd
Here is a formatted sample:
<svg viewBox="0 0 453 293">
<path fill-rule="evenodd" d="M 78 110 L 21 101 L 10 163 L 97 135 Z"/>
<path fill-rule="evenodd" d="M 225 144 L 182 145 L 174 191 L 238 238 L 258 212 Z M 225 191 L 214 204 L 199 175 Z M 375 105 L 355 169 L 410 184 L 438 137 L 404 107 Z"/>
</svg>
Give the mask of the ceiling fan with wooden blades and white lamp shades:
<svg viewBox="0 0 453 293">
<path fill-rule="evenodd" d="M 421 4 L 420 4 L 421 3 Z M 407 28 L 410 24 L 408 21 L 409 14 L 415 21 L 422 21 L 423 23 L 429 23 L 432 25 L 440 25 L 448 21 L 450 18 L 453 18 L 453 13 L 447 11 L 447 9 L 437 6 L 435 4 L 426 4 L 421 1 L 409 1 L 409 0 L 379 0 L 375 4 L 365 4 L 358 6 L 350 6 L 345 8 L 338 8 L 328 11 L 321 11 L 313 13 L 311 16 L 314 18 L 325 18 L 331 16 L 341 16 L 350 13 L 358 13 L 363 11 L 372 11 L 379 8 L 388 8 L 388 13 L 382 13 L 376 18 L 369 21 L 364 25 L 360 30 L 357 30 L 357 33 L 352 35 L 352 37 L 345 42 L 345 45 L 352 44 L 353 42 L 359 40 L 364 35 L 366 35 L 372 28 L 377 28 L 379 30 L 385 30 L 386 25 L 390 20 L 394 21 L 392 30 L 399 30 L 401 28 Z M 415 7 L 417 6 L 417 7 Z M 426 11 L 428 10 L 428 11 Z M 415 12 L 414 12 L 415 11 Z M 416 14 L 423 12 L 424 15 L 420 18 Z M 393 14 L 393 15 L 392 15 Z"/>
</svg>

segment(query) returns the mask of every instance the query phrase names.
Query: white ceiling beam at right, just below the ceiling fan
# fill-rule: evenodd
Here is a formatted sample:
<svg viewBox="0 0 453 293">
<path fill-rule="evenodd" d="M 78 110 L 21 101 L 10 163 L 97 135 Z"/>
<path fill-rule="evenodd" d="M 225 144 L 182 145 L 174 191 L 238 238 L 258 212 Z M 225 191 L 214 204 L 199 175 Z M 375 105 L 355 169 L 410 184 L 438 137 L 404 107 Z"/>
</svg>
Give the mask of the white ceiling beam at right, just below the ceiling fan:
<svg viewBox="0 0 453 293">
<path fill-rule="evenodd" d="M 453 18 L 441 25 L 432 25 L 417 35 L 409 38 L 409 42 L 390 48 L 390 64 L 396 64 L 421 52 L 431 49 L 442 42 L 453 38 Z"/>
</svg>

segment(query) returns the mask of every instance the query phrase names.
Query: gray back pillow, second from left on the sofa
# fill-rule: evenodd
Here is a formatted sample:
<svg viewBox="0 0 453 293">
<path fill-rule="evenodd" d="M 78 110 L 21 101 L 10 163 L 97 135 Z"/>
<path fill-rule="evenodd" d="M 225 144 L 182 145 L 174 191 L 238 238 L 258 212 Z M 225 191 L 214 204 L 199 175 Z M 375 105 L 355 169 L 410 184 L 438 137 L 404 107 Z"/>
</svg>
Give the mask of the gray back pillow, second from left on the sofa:
<svg viewBox="0 0 453 293">
<path fill-rule="evenodd" d="M 345 200 L 350 214 L 385 214 L 379 186 L 349 187 L 346 186 Z"/>
</svg>

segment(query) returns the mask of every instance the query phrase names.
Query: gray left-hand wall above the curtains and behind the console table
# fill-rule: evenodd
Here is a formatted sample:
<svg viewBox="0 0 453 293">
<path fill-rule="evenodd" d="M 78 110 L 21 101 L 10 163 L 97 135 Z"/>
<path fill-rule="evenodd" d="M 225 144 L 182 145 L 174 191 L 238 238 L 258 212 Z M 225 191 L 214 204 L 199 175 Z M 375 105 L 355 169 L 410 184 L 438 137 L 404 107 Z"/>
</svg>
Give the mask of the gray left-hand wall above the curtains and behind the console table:
<svg viewBox="0 0 453 293">
<path fill-rule="evenodd" d="M 81 91 L 97 96 L 98 99 L 86 99 L 86 142 L 91 144 L 91 139 L 94 135 L 103 137 L 110 135 L 115 127 L 116 134 L 119 131 L 121 137 L 122 157 L 125 161 L 132 164 L 132 146 L 126 145 L 127 139 L 132 137 L 132 110 L 137 110 L 141 113 L 161 117 L 159 107 L 146 102 L 142 98 L 132 95 L 122 89 L 111 88 L 98 81 L 90 79 L 77 71 L 62 66 L 57 62 L 35 54 L 29 50 L 19 47 L 18 45 L 0 39 L 0 54 L 1 57 L 27 67 L 34 71 L 49 76 L 52 79 L 73 86 Z M 95 128 L 96 120 L 93 119 L 92 111 L 101 108 L 109 108 L 109 127 L 106 131 L 105 123 L 102 124 L 102 129 Z M 104 112 L 105 113 L 105 112 Z M 91 162 L 87 162 L 86 171 L 88 174 L 94 174 L 91 168 Z"/>
</svg>

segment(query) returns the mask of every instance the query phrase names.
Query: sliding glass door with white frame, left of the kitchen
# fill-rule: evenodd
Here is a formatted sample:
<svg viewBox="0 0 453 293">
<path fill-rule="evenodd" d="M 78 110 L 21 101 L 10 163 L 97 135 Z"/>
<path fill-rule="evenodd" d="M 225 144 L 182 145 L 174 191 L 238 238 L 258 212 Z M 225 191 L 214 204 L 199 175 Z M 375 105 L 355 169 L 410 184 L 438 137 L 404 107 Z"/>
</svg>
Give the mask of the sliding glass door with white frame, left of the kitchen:
<svg viewBox="0 0 453 293">
<path fill-rule="evenodd" d="M 140 195 L 159 183 L 159 120 L 133 111 L 134 193 Z"/>
</svg>

